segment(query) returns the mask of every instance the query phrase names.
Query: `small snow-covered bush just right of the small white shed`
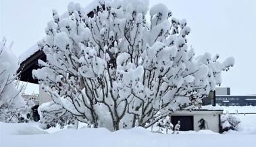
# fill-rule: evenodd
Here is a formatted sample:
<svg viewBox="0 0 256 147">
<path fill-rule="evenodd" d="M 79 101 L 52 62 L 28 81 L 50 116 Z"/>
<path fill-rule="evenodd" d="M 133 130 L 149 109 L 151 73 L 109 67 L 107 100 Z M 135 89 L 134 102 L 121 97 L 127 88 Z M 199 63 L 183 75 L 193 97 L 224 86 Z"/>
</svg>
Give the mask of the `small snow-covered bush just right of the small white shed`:
<svg viewBox="0 0 256 147">
<path fill-rule="evenodd" d="M 222 115 L 221 123 L 222 123 L 222 132 L 228 130 L 237 130 L 238 124 L 240 123 L 240 119 L 238 119 L 235 115 Z"/>
</svg>

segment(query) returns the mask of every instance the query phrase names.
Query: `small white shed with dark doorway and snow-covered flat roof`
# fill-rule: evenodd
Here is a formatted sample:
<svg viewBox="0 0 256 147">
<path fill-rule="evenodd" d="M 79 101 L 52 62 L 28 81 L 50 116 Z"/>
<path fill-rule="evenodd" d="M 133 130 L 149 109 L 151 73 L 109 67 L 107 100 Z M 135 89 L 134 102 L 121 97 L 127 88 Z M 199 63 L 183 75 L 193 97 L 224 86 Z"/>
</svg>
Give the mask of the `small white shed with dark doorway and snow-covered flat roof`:
<svg viewBox="0 0 256 147">
<path fill-rule="evenodd" d="M 220 133 L 220 115 L 222 113 L 223 109 L 219 105 L 206 105 L 184 111 L 174 111 L 170 115 L 170 119 L 174 125 L 180 121 L 180 131 L 210 129 Z"/>
</svg>

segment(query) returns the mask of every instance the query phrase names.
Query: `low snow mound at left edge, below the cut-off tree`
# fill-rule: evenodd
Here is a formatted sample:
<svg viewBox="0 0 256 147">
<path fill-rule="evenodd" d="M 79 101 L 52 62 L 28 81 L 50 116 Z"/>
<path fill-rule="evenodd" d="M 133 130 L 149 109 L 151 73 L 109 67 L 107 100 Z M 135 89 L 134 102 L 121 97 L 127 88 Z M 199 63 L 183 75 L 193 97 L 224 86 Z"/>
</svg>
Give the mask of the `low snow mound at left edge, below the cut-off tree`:
<svg viewBox="0 0 256 147">
<path fill-rule="evenodd" d="M 47 134 L 28 123 L 2 123 L 0 122 L 1 135 L 34 135 Z"/>
</svg>

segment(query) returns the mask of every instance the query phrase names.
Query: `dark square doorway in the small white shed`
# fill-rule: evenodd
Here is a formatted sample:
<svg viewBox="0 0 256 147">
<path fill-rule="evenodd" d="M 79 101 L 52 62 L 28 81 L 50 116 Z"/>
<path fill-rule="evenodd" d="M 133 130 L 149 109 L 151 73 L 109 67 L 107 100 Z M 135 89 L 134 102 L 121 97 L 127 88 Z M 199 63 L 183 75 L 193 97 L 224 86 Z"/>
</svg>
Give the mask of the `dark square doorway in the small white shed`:
<svg viewBox="0 0 256 147">
<path fill-rule="evenodd" d="M 172 116 L 171 121 L 174 126 L 180 121 L 180 131 L 194 130 L 193 116 Z"/>
</svg>

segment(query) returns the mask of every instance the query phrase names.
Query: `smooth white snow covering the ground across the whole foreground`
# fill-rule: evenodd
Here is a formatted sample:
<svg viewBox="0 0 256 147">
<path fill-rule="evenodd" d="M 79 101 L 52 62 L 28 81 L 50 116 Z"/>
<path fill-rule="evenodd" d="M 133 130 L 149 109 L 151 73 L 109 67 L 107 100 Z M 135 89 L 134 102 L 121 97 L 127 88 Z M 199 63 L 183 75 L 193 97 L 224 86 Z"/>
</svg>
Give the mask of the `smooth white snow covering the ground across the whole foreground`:
<svg viewBox="0 0 256 147">
<path fill-rule="evenodd" d="M 247 111 L 255 113 L 256 107 L 224 107 L 225 110 Z M 89 146 L 89 147 L 161 147 L 161 146 L 196 146 L 196 147 L 256 147 L 256 115 L 238 115 L 242 123 L 238 131 L 217 134 L 209 130 L 180 131 L 180 134 L 159 134 L 142 127 L 108 131 L 98 129 L 39 129 L 39 123 L 0 123 L 1 147 L 48 147 L 48 146 Z"/>
</svg>

